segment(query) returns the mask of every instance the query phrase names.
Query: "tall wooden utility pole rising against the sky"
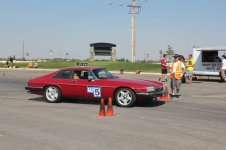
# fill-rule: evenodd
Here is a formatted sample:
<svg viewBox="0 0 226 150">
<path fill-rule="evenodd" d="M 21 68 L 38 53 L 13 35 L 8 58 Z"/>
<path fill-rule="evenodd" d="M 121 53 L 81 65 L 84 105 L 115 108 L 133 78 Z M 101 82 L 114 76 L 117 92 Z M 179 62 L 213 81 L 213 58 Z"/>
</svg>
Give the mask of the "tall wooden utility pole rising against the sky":
<svg viewBox="0 0 226 150">
<path fill-rule="evenodd" d="M 132 63 L 136 62 L 136 14 L 140 13 L 141 6 L 136 5 L 136 0 L 133 0 L 129 14 L 132 14 Z"/>
</svg>

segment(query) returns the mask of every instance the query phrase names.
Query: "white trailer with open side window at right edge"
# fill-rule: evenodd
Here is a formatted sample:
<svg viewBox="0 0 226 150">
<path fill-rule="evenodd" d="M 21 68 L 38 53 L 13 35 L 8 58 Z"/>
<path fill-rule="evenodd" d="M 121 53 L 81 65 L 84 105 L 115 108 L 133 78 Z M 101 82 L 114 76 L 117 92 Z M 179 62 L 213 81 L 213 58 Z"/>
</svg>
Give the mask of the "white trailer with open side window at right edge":
<svg viewBox="0 0 226 150">
<path fill-rule="evenodd" d="M 194 76 L 221 77 L 221 56 L 226 52 L 226 47 L 193 47 L 195 60 Z"/>
</svg>

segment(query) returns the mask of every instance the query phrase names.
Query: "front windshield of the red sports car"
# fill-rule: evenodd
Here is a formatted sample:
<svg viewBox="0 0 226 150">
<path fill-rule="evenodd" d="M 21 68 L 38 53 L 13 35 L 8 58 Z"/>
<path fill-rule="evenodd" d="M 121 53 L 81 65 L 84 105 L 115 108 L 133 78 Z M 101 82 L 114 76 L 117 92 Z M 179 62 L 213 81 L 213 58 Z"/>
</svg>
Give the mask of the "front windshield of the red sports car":
<svg viewBox="0 0 226 150">
<path fill-rule="evenodd" d="M 105 68 L 95 69 L 95 70 L 93 70 L 93 73 L 98 79 L 114 79 L 114 78 L 116 78 L 113 74 L 111 74 Z"/>
</svg>

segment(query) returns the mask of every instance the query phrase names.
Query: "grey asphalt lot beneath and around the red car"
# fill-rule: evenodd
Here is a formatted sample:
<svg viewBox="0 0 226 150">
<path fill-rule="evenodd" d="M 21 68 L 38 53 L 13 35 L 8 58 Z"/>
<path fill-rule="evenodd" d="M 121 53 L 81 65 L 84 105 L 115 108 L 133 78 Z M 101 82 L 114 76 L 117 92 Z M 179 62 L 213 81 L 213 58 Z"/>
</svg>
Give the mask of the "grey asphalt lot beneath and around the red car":
<svg viewBox="0 0 226 150">
<path fill-rule="evenodd" d="M 225 150 L 226 83 L 182 84 L 181 97 L 98 118 L 99 102 L 46 103 L 26 93 L 28 79 L 45 70 L 0 70 L 1 150 Z M 157 80 L 153 74 L 116 74 Z"/>
</svg>

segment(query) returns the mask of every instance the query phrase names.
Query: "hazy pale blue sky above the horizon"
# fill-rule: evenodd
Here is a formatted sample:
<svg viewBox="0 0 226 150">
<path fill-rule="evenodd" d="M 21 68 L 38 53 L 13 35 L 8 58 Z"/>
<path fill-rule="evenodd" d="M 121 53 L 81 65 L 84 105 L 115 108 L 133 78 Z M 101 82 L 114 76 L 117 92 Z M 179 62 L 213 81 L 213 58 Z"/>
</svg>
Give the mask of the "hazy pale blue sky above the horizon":
<svg viewBox="0 0 226 150">
<path fill-rule="evenodd" d="M 89 58 L 89 44 L 117 45 L 117 58 L 131 60 L 131 0 L 0 0 L 0 57 Z M 193 46 L 226 45 L 226 0 L 136 0 L 137 60 L 158 60 Z M 50 50 L 53 55 L 50 55 Z M 103 57 L 108 59 L 108 57 Z"/>
</svg>

